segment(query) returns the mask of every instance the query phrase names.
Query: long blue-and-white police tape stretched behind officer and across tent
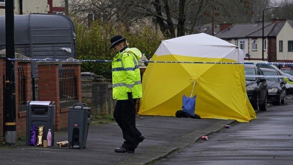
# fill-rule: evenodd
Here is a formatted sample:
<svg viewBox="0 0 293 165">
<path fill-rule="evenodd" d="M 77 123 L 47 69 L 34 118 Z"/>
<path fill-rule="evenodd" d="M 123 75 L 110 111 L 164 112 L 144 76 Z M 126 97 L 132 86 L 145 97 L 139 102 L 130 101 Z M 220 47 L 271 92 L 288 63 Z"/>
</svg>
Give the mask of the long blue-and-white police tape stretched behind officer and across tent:
<svg viewBox="0 0 293 165">
<path fill-rule="evenodd" d="M 24 61 L 71 61 L 71 62 L 112 62 L 113 60 L 73 60 L 73 59 L 17 59 L 6 58 L 7 60 L 24 60 Z M 200 61 L 138 61 L 139 63 L 187 63 L 187 64 L 234 64 L 234 65 L 288 65 L 293 66 L 293 63 L 253 63 L 253 62 L 200 62 Z"/>
</svg>

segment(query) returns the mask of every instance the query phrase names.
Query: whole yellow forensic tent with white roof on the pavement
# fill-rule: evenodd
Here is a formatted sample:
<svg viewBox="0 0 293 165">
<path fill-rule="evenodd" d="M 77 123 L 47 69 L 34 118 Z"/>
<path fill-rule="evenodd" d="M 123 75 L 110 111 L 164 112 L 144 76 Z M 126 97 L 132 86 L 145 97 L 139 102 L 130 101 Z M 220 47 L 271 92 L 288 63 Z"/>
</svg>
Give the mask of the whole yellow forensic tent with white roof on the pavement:
<svg viewBox="0 0 293 165">
<path fill-rule="evenodd" d="M 205 33 L 162 41 L 151 61 L 243 62 L 237 46 Z M 175 116 L 196 81 L 195 113 L 201 118 L 255 119 L 238 64 L 149 63 L 143 74 L 140 115 Z"/>
</svg>

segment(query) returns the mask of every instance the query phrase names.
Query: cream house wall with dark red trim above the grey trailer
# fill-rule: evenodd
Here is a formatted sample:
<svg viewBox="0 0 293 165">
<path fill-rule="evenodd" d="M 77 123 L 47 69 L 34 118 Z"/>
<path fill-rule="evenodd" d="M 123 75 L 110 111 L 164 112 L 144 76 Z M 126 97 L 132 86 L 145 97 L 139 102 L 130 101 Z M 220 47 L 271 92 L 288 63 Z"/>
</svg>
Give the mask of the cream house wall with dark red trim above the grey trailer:
<svg viewBox="0 0 293 165">
<path fill-rule="evenodd" d="M 0 0 L 0 15 L 5 15 L 5 1 Z M 64 0 L 14 0 L 15 15 L 64 12 Z"/>
</svg>

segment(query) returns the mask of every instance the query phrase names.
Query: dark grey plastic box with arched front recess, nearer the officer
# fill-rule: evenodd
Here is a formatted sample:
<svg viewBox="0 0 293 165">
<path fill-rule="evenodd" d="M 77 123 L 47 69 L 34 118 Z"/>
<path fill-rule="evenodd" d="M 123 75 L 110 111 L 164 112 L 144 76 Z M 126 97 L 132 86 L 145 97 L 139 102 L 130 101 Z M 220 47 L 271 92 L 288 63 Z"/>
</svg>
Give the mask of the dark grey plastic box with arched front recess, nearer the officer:
<svg viewBox="0 0 293 165">
<path fill-rule="evenodd" d="M 85 103 L 74 104 L 68 112 L 68 148 L 86 147 L 91 108 Z"/>
</svg>

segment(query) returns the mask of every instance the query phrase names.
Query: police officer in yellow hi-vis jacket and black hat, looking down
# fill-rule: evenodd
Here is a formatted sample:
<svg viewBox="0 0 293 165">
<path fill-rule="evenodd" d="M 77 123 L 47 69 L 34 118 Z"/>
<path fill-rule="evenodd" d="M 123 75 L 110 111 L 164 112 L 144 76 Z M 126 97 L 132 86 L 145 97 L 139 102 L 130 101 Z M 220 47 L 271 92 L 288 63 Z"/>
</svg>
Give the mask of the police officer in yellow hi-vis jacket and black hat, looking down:
<svg viewBox="0 0 293 165">
<path fill-rule="evenodd" d="M 135 127 L 135 103 L 142 97 L 138 59 L 141 52 L 129 48 L 120 35 L 111 38 L 111 47 L 117 53 L 112 62 L 113 99 L 117 99 L 113 116 L 122 130 L 124 143 L 118 153 L 134 153 L 144 136 Z"/>
</svg>

